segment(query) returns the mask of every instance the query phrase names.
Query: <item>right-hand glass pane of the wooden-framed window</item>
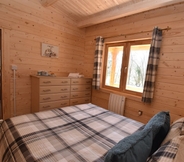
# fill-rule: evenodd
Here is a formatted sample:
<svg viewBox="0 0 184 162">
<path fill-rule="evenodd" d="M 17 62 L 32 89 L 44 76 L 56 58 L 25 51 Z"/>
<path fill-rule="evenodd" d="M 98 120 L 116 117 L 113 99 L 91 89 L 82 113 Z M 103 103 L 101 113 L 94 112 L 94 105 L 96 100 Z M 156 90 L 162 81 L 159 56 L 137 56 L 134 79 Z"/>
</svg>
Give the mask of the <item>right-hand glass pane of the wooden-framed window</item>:
<svg viewBox="0 0 184 162">
<path fill-rule="evenodd" d="M 143 92 L 149 50 L 150 44 L 133 45 L 130 47 L 128 75 L 126 81 L 127 90 Z"/>
</svg>

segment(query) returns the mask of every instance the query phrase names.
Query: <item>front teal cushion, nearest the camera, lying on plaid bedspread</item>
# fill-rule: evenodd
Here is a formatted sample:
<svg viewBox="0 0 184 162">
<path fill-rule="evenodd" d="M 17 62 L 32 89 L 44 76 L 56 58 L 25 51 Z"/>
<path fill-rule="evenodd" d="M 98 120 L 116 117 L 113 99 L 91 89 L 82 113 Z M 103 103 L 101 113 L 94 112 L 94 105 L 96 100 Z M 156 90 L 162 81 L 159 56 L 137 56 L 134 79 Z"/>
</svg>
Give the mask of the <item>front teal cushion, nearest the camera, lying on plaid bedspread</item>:
<svg viewBox="0 0 184 162">
<path fill-rule="evenodd" d="M 105 162 L 145 162 L 151 151 L 151 128 L 137 131 L 118 142 L 105 156 Z"/>
</svg>

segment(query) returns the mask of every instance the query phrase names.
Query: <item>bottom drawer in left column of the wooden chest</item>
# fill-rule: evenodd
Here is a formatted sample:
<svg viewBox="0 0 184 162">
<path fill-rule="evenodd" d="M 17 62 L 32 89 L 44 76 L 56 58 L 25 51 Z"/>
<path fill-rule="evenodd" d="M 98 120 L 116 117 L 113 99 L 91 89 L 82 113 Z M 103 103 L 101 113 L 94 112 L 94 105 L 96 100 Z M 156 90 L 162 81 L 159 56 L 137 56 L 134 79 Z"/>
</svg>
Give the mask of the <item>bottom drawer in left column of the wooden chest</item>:
<svg viewBox="0 0 184 162">
<path fill-rule="evenodd" d="M 60 108 L 69 105 L 69 100 L 40 103 L 40 111 Z"/>
</svg>

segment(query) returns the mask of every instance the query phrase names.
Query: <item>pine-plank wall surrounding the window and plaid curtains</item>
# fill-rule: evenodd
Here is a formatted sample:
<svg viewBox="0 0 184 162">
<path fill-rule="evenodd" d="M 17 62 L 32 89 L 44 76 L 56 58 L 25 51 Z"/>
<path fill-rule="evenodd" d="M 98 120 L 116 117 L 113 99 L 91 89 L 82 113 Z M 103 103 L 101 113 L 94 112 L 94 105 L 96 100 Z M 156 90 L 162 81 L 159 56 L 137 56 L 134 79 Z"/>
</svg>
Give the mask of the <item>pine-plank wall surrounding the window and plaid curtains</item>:
<svg viewBox="0 0 184 162">
<path fill-rule="evenodd" d="M 169 111 L 171 121 L 184 116 L 184 3 L 151 10 L 148 12 L 124 17 L 118 20 L 91 26 L 86 29 L 85 41 L 85 66 L 88 67 L 84 74 L 93 74 L 93 59 L 96 36 L 114 36 L 119 34 L 136 33 L 152 30 L 154 26 L 160 28 L 171 27 L 171 30 L 163 32 L 163 42 L 160 53 L 158 74 L 154 101 L 151 105 L 143 104 L 140 98 L 126 96 L 125 116 L 146 123 L 159 111 Z M 151 37 L 150 33 L 146 33 Z M 131 35 L 140 37 L 141 34 Z M 143 34 L 142 34 L 143 35 Z M 146 35 L 144 35 L 146 37 Z M 127 36 L 126 39 L 128 39 Z M 123 36 L 112 40 L 125 40 Z M 106 39 L 109 41 L 109 39 Z M 99 95 L 100 94 L 100 95 Z M 126 94 L 125 94 L 126 95 Z M 102 96 L 106 96 L 103 98 Z M 92 102 L 107 108 L 109 92 L 93 91 Z M 138 111 L 143 111 L 138 116 Z"/>
</svg>

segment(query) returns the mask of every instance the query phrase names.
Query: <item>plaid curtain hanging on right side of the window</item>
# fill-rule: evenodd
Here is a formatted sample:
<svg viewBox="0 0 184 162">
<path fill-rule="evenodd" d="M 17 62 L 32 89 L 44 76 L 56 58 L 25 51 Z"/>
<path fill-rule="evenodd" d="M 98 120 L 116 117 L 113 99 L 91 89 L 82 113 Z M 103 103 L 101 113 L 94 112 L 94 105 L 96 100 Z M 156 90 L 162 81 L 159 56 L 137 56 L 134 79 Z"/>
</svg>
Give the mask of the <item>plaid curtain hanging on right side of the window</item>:
<svg viewBox="0 0 184 162">
<path fill-rule="evenodd" d="M 152 34 L 151 47 L 148 58 L 146 78 L 144 82 L 144 90 L 142 94 L 142 102 L 151 103 L 154 93 L 155 77 L 158 67 L 160 47 L 162 42 L 162 30 L 158 27 L 154 28 Z"/>
</svg>

